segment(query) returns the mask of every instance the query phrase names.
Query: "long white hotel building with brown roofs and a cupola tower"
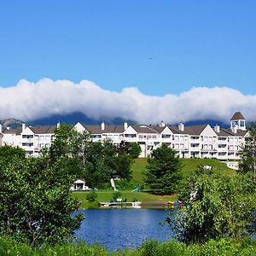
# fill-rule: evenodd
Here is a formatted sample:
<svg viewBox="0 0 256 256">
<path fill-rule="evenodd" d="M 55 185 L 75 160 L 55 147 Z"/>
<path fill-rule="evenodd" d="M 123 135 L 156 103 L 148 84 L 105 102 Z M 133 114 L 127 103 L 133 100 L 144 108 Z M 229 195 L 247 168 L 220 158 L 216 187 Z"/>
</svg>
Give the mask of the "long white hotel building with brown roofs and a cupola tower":
<svg viewBox="0 0 256 256">
<path fill-rule="evenodd" d="M 138 143 L 142 148 L 141 157 L 147 157 L 152 150 L 166 143 L 183 158 L 217 158 L 218 160 L 238 160 L 239 150 L 247 135 L 245 118 L 236 112 L 230 119 L 230 128 L 218 125 L 83 125 L 76 124 L 77 131 L 88 131 L 94 142 L 109 138 L 114 144 L 121 141 Z M 49 147 L 55 136 L 55 125 L 26 126 L 2 131 L 0 126 L 0 146 L 19 146 L 27 155 L 40 155 L 43 147 Z"/>
</svg>

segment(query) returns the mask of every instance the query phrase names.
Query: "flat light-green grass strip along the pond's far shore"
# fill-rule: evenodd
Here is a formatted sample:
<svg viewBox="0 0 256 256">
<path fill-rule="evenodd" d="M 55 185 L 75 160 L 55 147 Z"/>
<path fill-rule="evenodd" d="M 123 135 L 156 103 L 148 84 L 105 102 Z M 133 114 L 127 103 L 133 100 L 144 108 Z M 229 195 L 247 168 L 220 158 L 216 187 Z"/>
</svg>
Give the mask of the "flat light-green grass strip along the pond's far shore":
<svg viewBox="0 0 256 256">
<path fill-rule="evenodd" d="M 132 193 L 130 190 L 120 190 L 121 193 L 120 198 L 126 199 L 127 201 L 143 201 L 143 202 L 148 202 L 148 201 L 176 201 L 177 196 L 176 195 L 151 195 L 146 192 L 136 192 Z M 81 208 L 93 208 L 96 207 L 95 203 L 89 203 L 86 201 L 86 195 L 88 195 L 87 191 L 78 191 L 78 192 L 73 192 L 73 196 L 79 201 L 81 201 Z M 110 199 L 113 198 L 113 191 L 97 191 L 96 192 L 97 198 L 96 201 L 110 201 Z"/>
</svg>

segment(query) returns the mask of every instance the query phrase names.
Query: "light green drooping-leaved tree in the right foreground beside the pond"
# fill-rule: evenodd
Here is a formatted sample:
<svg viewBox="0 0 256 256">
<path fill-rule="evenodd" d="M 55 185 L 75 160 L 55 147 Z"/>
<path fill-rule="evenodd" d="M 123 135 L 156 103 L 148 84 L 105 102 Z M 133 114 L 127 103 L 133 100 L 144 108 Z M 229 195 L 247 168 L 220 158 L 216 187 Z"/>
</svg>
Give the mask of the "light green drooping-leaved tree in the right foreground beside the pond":
<svg viewBox="0 0 256 256">
<path fill-rule="evenodd" d="M 180 194 L 186 207 L 166 221 L 180 241 L 240 239 L 255 232 L 255 192 L 250 175 L 220 176 L 199 168 Z"/>
</svg>

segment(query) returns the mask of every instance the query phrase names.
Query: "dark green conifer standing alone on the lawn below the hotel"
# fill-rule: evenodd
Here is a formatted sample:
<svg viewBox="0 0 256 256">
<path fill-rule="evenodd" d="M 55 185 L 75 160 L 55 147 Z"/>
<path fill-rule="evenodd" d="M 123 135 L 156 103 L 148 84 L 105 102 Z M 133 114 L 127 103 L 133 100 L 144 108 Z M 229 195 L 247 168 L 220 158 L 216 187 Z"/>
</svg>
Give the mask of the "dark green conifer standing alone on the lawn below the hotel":
<svg viewBox="0 0 256 256">
<path fill-rule="evenodd" d="M 144 183 L 154 194 L 172 194 L 181 180 L 181 167 L 177 152 L 162 144 L 160 148 L 154 149 L 152 157 L 148 158 Z"/>
</svg>

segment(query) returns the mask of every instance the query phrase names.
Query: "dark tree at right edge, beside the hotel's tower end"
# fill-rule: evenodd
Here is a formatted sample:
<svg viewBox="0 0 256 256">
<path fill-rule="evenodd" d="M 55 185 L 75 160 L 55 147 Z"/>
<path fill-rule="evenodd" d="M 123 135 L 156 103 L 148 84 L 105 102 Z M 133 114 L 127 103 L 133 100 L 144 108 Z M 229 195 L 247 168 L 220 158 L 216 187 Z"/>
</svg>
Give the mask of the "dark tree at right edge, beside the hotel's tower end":
<svg viewBox="0 0 256 256">
<path fill-rule="evenodd" d="M 240 151 L 241 162 L 239 164 L 239 172 L 253 172 L 254 181 L 256 180 L 256 130 L 253 125 L 250 126 L 245 144 Z"/>
</svg>

